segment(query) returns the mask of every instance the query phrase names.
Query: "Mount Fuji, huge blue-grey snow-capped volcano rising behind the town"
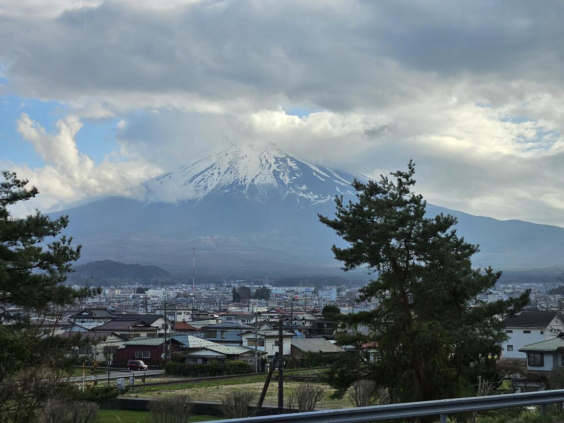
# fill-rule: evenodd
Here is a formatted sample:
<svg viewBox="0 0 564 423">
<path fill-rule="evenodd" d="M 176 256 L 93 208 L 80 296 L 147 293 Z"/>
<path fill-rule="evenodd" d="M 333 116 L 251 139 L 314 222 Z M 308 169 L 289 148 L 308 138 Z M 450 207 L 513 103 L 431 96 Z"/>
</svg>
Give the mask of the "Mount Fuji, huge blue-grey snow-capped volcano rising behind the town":
<svg viewBox="0 0 564 423">
<path fill-rule="evenodd" d="M 274 147 L 212 151 L 142 184 L 142 199 L 107 197 L 68 214 L 67 233 L 83 245 L 81 262 L 112 259 L 199 274 L 337 274 L 331 246 L 342 241 L 318 221 L 334 213 L 335 195 L 354 200 L 347 173 L 298 160 Z M 499 221 L 439 206 L 466 240 L 481 244 L 474 265 L 561 266 L 564 228 Z"/>
</svg>

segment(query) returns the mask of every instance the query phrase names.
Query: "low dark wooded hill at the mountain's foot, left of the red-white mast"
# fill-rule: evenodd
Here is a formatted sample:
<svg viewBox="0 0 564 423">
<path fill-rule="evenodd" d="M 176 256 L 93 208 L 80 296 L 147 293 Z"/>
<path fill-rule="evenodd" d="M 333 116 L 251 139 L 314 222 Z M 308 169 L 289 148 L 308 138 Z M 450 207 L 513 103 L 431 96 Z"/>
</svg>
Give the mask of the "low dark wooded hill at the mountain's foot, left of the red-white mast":
<svg viewBox="0 0 564 423">
<path fill-rule="evenodd" d="M 93 276 L 99 279 L 142 279 L 172 277 L 170 272 L 158 266 L 126 265 L 112 260 L 85 263 L 74 267 L 77 276 Z"/>
</svg>

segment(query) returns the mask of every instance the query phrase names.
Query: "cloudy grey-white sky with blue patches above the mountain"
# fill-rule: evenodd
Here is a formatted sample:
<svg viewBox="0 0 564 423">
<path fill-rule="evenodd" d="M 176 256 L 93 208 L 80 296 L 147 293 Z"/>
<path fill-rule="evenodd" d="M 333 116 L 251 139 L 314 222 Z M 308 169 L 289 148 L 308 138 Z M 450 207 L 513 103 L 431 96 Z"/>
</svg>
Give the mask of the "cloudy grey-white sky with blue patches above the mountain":
<svg viewBox="0 0 564 423">
<path fill-rule="evenodd" d="M 164 6 L 166 3 L 166 6 Z M 564 226 L 562 2 L 0 0 L 0 168 L 61 209 L 274 143 Z"/>
</svg>

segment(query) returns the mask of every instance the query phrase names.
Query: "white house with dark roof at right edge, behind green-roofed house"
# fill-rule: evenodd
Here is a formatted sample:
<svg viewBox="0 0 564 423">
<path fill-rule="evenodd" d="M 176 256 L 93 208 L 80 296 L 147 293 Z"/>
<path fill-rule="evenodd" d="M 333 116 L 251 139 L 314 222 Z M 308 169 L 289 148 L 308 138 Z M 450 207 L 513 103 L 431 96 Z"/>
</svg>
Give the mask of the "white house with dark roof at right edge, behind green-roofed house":
<svg viewBox="0 0 564 423">
<path fill-rule="evenodd" d="M 504 320 L 508 340 L 501 344 L 502 358 L 525 360 L 525 345 L 541 342 L 564 333 L 564 319 L 559 311 L 521 311 Z"/>
</svg>

